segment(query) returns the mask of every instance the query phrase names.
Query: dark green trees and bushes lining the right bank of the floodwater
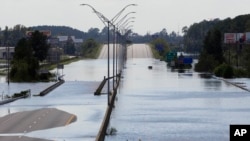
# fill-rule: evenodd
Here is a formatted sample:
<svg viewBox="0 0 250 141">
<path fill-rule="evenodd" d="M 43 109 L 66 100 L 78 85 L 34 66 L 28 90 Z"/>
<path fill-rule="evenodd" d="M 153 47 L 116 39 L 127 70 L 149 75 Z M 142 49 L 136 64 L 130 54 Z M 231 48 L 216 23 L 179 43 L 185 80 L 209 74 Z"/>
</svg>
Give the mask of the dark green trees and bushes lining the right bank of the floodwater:
<svg viewBox="0 0 250 141">
<path fill-rule="evenodd" d="M 185 35 L 185 41 L 191 44 L 191 31 L 200 29 L 201 25 L 209 29 L 204 32 L 202 48 L 196 51 L 200 52 L 199 62 L 195 65 L 198 72 L 210 72 L 218 77 L 250 77 L 250 45 L 245 43 L 224 44 L 224 33 L 245 33 L 250 31 L 250 15 L 238 16 L 234 19 L 214 20 L 208 26 L 208 22 L 201 22 L 191 26 Z M 203 30 L 204 31 L 204 30 Z M 198 34 L 198 33 L 197 33 Z M 196 35 L 197 36 L 197 35 Z M 196 40 L 200 44 L 200 41 Z M 197 46 L 196 46 L 197 47 Z M 188 47 L 186 48 L 188 49 Z M 195 48 L 189 48 L 195 50 Z"/>
</svg>

